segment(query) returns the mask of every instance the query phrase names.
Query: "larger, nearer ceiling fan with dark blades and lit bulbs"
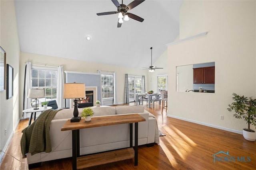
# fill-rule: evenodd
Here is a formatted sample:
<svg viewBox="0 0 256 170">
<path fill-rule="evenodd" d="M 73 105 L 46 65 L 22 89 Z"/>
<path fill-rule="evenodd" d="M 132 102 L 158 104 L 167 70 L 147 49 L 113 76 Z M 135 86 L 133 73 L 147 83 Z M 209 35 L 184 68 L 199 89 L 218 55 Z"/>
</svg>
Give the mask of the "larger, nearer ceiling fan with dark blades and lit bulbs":
<svg viewBox="0 0 256 170">
<path fill-rule="evenodd" d="M 117 11 L 97 13 L 98 16 L 118 14 L 118 23 L 117 23 L 118 28 L 121 27 L 121 25 L 124 21 L 128 21 L 129 18 L 132 18 L 132 19 L 140 21 L 140 22 L 144 21 L 143 18 L 140 18 L 139 16 L 136 16 L 132 13 L 127 12 L 127 11 L 131 10 L 132 8 L 134 8 L 136 6 L 138 6 L 139 4 L 141 4 L 145 0 L 134 0 L 130 4 L 128 4 L 127 6 L 123 4 L 123 0 L 122 0 L 122 4 L 119 4 L 119 2 L 117 0 L 111 0 L 111 1 L 117 7 Z M 124 18 L 124 21 L 122 20 L 122 18 Z"/>
</svg>

